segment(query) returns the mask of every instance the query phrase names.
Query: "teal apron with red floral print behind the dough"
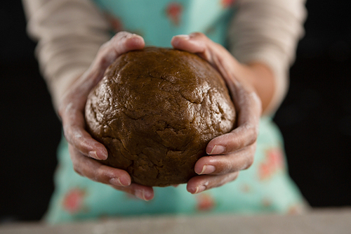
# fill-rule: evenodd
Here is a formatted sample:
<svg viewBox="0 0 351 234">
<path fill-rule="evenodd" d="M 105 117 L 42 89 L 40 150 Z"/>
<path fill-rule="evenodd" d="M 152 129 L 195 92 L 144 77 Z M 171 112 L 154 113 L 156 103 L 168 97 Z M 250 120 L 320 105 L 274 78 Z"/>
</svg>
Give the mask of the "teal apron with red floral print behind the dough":
<svg viewBox="0 0 351 234">
<path fill-rule="evenodd" d="M 171 46 L 176 34 L 203 32 L 225 46 L 232 0 L 96 0 L 112 30 L 144 37 L 150 46 Z M 216 214 L 297 212 L 304 207 L 300 191 L 289 178 L 282 136 L 270 117 L 260 121 L 255 162 L 237 180 L 192 195 L 186 184 L 154 188 L 154 199 L 138 200 L 74 172 L 62 137 L 55 171 L 55 191 L 45 216 L 50 223 L 142 214 Z"/>
</svg>

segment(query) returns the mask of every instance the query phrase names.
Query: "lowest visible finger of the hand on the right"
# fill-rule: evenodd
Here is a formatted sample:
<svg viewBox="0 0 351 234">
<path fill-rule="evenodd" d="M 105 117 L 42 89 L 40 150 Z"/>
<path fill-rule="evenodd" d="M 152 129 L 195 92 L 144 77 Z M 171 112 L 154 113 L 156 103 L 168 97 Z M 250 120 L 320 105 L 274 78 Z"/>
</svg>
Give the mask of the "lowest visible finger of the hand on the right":
<svg viewBox="0 0 351 234">
<path fill-rule="evenodd" d="M 194 176 L 187 182 L 187 191 L 192 194 L 201 193 L 204 190 L 223 186 L 225 183 L 234 181 L 238 175 L 239 171 L 216 176 Z"/>
</svg>

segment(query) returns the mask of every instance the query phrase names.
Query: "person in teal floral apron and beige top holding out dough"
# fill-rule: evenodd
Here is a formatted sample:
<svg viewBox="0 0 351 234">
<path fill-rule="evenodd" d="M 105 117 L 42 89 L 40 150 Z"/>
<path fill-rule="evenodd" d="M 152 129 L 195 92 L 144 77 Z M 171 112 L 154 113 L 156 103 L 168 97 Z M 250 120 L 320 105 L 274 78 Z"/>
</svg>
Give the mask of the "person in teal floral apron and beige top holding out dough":
<svg viewBox="0 0 351 234">
<path fill-rule="evenodd" d="M 23 3 L 65 134 L 48 221 L 305 207 L 271 119 L 286 93 L 289 65 L 303 34 L 303 0 Z M 173 46 L 208 60 L 227 82 L 238 111 L 237 128 L 208 143 L 208 156 L 195 164 L 199 176 L 176 188 L 131 183 L 126 171 L 95 161 L 105 160 L 107 150 L 84 130 L 89 91 L 118 56 L 145 44 Z"/>
</svg>

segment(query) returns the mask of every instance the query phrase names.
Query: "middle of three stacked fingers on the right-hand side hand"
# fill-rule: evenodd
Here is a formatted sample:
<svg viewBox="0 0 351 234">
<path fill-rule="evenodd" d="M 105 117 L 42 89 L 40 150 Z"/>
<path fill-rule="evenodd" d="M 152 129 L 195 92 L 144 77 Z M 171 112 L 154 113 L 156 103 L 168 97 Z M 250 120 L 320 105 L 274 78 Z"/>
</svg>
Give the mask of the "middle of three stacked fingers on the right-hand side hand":
<svg viewBox="0 0 351 234">
<path fill-rule="evenodd" d="M 199 175 L 216 175 L 248 169 L 253 164 L 255 150 L 256 143 L 229 155 L 201 157 L 197 160 L 194 170 Z"/>
</svg>

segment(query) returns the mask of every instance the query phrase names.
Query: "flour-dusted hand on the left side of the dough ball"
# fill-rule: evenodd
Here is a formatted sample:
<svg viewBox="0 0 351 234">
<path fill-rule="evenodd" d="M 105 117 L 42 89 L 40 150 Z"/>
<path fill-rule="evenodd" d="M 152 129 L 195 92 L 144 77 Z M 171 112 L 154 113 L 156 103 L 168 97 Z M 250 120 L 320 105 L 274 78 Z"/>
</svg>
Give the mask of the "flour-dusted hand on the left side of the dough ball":
<svg viewBox="0 0 351 234">
<path fill-rule="evenodd" d="M 106 160 L 107 150 L 85 130 L 84 109 L 91 89 L 102 79 L 106 68 L 122 53 L 144 48 L 144 39 L 136 34 L 119 32 L 103 44 L 88 70 L 77 79 L 60 102 L 58 113 L 62 119 L 65 138 L 74 170 L 93 181 L 108 184 L 117 190 L 131 193 L 143 200 L 151 200 L 151 187 L 131 183 L 131 176 L 121 169 L 107 167 L 96 160 Z M 95 159 L 95 160 L 93 160 Z"/>
</svg>

